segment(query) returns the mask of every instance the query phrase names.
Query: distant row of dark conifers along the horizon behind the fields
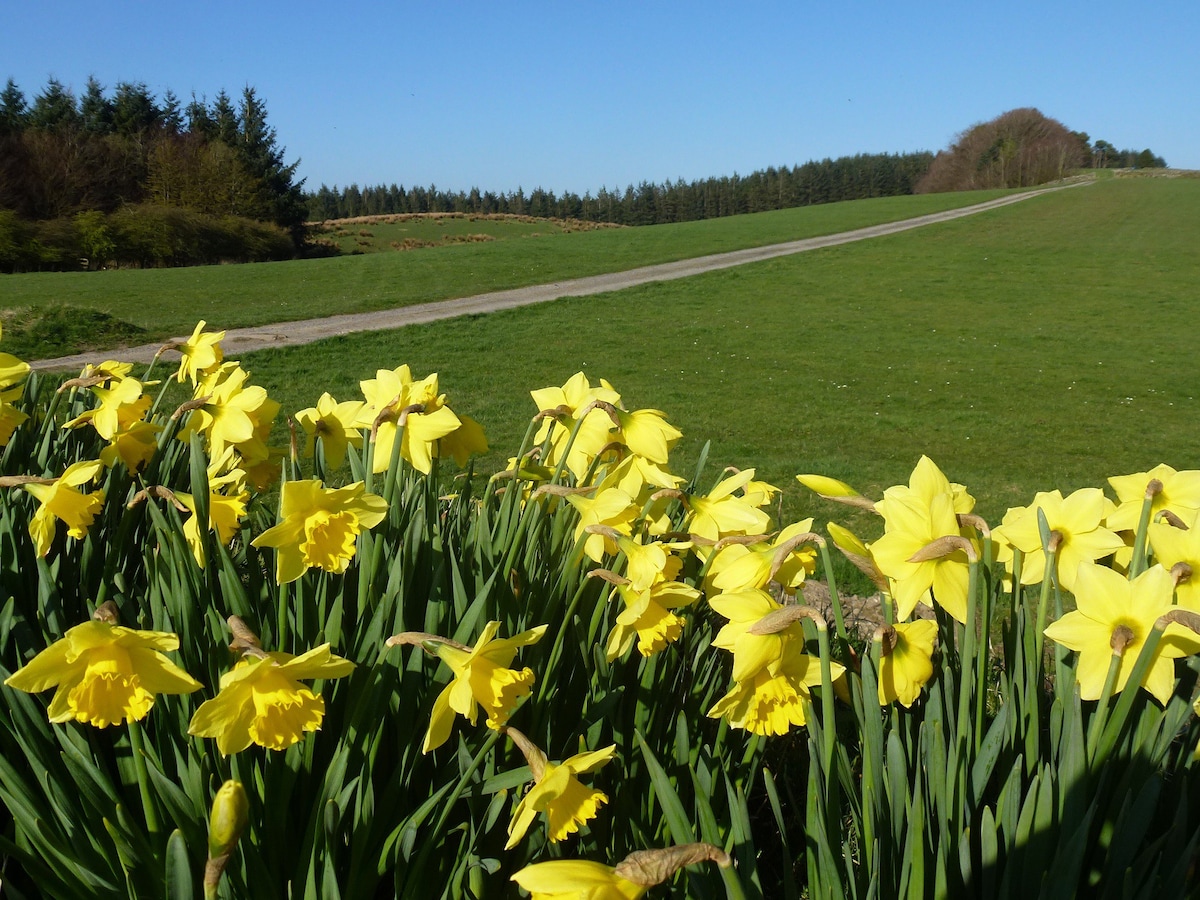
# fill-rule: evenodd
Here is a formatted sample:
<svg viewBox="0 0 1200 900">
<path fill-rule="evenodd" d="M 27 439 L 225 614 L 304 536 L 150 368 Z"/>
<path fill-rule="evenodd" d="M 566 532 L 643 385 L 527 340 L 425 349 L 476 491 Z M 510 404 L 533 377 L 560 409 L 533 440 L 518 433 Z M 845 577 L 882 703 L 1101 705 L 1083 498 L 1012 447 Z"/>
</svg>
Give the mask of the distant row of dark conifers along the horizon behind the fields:
<svg viewBox="0 0 1200 900">
<path fill-rule="evenodd" d="M 836 160 L 806 162 L 802 166 L 770 167 L 749 175 L 728 175 L 694 181 L 642 181 L 624 191 L 601 187 L 595 196 L 582 197 L 566 191 L 562 194 L 541 187 L 526 193 L 522 188 L 504 193 L 480 191 L 444 191 L 430 187 L 352 184 L 338 188 L 322 185 L 308 192 L 308 218 L 322 222 L 352 216 L 394 215 L 406 212 L 512 214 L 578 218 L 588 222 L 618 224 L 664 224 L 700 218 L 763 212 L 816 203 L 892 197 L 913 192 L 917 181 L 929 169 L 934 155 L 858 154 Z"/>
</svg>

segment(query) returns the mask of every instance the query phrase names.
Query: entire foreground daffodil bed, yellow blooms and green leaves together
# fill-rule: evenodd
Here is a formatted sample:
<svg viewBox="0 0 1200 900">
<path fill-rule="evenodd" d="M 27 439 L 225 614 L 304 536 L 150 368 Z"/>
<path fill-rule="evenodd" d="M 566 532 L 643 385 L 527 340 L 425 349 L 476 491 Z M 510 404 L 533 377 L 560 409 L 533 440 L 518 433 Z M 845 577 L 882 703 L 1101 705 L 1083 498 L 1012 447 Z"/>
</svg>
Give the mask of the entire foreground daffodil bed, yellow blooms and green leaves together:
<svg viewBox="0 0 1200 900">
<path fill-rule="evenodd" d="M 925 458 L 800 475 L 857 536 L 673 472 L 602 379 L 533 390 L 488 476 L 436 373 L 283 410 L 221 337 L 0 353 L 4 890 L 1198 889 L 1196 473 L 995 528 Z M 878 589 L 850 625 L 833 550 Z"/>
</svg>

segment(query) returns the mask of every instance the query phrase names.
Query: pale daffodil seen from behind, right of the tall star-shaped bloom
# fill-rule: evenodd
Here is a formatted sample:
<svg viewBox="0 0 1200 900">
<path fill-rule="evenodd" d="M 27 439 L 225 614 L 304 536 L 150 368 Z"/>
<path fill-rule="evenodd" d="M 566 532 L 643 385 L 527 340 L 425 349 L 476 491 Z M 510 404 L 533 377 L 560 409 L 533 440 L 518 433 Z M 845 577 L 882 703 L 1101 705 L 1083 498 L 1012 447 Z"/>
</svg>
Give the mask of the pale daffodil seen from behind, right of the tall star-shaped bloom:
<svg viewBox="0 0 1200 900">
<path fill-rule="evenodd" d="M 1080 563 L 1093 563 L 1097 559 L 1124 548 L 1121 538 L 1100 522 L 1112 511 L 1114 504 L 1097 487 L 1084 487 L 1069 497 L 1060 491 L 1038 492 L 1033 503 L 1008 510 L 1001 526 L 992 530 L 1001 556 L 1012 571 L 1010 547 L 1025 554 L 1021 568 L 1021 583 L 1037 584 L 1045 574 L 1046 557 L 1042 547 L 1042 534 L 1038 530 L 1038 510 L 1046 517 L 1051 532 L 1060 534 L 1057 551 L 1058 583 L 1074 593 L 1075 572 Z M 1008 551 L 1007 553 L 1004 551 Z"/>
</svg>

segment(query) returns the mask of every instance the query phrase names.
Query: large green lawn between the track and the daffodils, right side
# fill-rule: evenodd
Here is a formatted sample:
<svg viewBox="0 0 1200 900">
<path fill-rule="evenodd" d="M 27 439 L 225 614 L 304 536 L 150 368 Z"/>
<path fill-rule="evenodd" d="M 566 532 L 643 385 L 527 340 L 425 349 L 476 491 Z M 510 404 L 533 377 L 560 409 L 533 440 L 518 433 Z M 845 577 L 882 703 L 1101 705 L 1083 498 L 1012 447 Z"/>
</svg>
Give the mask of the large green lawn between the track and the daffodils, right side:
<svg viewBox="0 0 1200 900">
<path fill-rule="evenodd" d="M 625 233 L 622 233 L 625 234 Z M 632 235 L 643 232 L 630 232 Z M 619 293 L 251 354 L 294 410 L 401 362 L 515 452 L 528 391 L 583 370 L 666 410 L 710 466 L 864 491 L 922 452 L 998 522 L 1033 492 L 1200 467 L 1200 181 L 1114 179 L 968 218 Z M 547 245 L 550 241 L 546 242 Z M 710 469 L 715 474 L 715 468 Z M 803 499 L 802 499 L 803 498 Z"/>
</svg>

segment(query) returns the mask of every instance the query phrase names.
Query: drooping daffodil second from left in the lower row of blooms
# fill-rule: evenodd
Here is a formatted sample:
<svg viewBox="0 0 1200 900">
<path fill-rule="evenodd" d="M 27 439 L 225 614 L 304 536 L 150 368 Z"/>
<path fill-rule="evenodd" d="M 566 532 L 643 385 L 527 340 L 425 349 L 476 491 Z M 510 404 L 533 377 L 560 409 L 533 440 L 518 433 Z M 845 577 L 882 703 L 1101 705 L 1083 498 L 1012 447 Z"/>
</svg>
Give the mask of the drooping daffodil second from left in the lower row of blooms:
<svg viewBox="0 0 1200 900">
<path fill-rule="evenodd" d="M 242 658 L 221 676 L 221 691 L 196 710 L 187 733 L 216 738 L 223 755 L 251 744 L 287 750 L 305 732 L 320 728 L 325 700 L 300 684 L 310 678 L 342 678 L 354 664 L 322 644 L 299 656 L 264 653 Z"/>
</svg>

